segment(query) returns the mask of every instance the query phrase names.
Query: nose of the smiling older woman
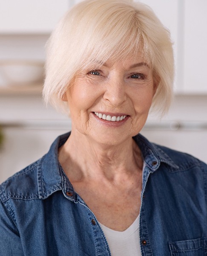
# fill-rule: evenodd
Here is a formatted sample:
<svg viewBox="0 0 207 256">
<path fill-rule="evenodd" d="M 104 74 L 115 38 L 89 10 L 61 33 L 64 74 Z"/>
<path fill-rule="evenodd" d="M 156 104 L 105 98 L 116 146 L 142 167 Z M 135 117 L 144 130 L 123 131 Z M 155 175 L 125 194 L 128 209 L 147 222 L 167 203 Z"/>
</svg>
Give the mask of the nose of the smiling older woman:
<svg viewBox="0 0 207 256">
<path fill-rule="evenodd" d="M 126 101 L 126 84 L 122 79 L 112 79 L 106 85 L 103 99 L 118 107 Z"/>
</svg>

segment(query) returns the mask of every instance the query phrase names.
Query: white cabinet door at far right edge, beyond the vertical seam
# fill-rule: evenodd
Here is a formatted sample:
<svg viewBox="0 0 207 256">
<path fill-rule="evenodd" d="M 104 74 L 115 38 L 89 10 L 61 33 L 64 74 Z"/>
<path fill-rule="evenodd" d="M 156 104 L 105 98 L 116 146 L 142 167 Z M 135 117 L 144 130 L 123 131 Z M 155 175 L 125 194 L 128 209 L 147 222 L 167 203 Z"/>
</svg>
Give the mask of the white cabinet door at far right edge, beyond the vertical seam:
<svg viewBox="0 0 207 256">
<path fill-rule="evenodd" d="M 185 0 L 184 93 L 207 93 L 206 12 L 206 0 Z"/>
</svg>

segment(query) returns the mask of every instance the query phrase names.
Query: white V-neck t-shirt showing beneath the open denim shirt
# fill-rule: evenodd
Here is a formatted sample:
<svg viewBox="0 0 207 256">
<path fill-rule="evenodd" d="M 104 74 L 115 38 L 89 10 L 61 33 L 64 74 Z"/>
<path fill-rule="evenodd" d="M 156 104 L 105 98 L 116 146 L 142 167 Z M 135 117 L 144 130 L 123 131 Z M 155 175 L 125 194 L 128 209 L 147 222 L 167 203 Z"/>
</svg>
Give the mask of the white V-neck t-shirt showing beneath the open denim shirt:
<svg viewBox="0 0 207 256">
<path fill-rule="evenodd" d="M 139 238 L 139 215 L 124 231 L 115 231 L 101 225 L 112 256 L 141 256 Z"/>
</svg>

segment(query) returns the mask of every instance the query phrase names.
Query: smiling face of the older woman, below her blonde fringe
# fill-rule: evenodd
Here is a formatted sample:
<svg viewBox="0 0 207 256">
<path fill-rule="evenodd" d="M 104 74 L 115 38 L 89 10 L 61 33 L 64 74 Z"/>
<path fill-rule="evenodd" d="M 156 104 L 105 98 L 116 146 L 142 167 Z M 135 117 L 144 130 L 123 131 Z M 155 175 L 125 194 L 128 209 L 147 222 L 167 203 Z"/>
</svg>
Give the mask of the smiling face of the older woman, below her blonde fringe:
<svg viewBox="0 0 207 256">
<path fill-rule="evenodd" d="M 66 92 L 72 134 L 106 145 L 126 142 L 143 128 L 155 90 L 141 57 L 83 70 Z"/>
</svg>

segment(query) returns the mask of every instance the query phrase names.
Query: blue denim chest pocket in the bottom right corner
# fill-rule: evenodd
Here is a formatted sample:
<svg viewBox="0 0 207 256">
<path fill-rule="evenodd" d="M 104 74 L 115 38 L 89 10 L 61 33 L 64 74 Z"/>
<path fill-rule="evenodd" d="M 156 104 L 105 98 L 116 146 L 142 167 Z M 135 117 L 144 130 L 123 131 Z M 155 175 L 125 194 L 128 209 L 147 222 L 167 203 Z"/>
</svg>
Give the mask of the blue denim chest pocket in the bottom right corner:
<svg viewBox="0 0 207 256">
<path fill-rule="evenodd" d="M 207 256 L 207 238 L 169 242 L 171 256 Z"/>
</svg>

